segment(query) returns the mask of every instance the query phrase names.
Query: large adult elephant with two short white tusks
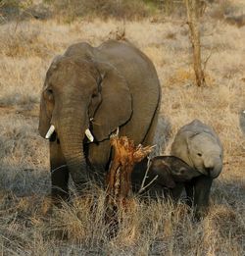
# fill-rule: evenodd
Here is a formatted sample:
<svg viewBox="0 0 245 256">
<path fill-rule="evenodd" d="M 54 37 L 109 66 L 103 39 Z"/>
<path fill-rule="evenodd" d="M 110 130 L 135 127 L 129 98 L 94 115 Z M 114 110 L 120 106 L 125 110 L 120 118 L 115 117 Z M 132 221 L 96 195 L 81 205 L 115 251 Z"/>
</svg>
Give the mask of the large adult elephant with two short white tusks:
<svg viewBox="0 0 245 256">
<path fill-rule="evenodd" d="M 90 175 L 105 172 L 117 129 L 135 144 L 151 145 L 160 103 L 152 62 L 127 41 L 77 43 L 56 57 L 39 116 L 39 132 L 50 141 L 52 196 L 69 196 L 69 174 L 80 190 Z"/>
</svg>

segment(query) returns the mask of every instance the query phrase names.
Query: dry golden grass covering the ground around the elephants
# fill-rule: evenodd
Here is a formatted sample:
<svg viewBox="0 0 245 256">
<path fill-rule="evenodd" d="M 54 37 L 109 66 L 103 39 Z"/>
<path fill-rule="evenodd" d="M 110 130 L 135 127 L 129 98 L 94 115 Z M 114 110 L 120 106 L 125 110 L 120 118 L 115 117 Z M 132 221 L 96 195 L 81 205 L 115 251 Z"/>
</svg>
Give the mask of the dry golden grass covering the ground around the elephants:
<svg viewBox="0 0 245 256">
<path fill-rule="evenodd" d="M 125 36 L 154 62 L 163 88 L 162 114 L 171 130 L 197 118 L 213 126 L 224 165 L 200 223 L 184 205 L 138 203 L 108 240 L 102 222 L 104 192 L 48 213 L 48 142 L 38 135 L 38 102 L 52 58 L 74 42 L 94 46 L 123 23 L 27 21 L 0 26 L 0 251 L 2 255 L 244 255 L 245 137 L 238 113 L 245 108 L 245 26 L 204 18 L 202 46 L 208 86 L 197 88 L 183 21 L 126 22 Z M 91 195 L 92 196 L 92 195 Z M 91 213 L 92 211 L 92 213 Z"/>
</svg>

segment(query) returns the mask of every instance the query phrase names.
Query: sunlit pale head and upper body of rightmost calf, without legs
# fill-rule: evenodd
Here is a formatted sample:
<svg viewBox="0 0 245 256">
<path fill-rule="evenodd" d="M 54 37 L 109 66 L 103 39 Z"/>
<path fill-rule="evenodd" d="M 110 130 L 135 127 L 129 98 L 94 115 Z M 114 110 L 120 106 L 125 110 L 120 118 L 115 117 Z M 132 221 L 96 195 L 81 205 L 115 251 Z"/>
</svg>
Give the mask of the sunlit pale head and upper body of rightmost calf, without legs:
<svg viewBox="0 0 245 256">
<path fill-rule="evenodd" d="M 172 143 L 172 155 L 212 179 L 221 174 L 223 151 L 213 128 L 194 120 L 180 128 Z"/>
</svg>

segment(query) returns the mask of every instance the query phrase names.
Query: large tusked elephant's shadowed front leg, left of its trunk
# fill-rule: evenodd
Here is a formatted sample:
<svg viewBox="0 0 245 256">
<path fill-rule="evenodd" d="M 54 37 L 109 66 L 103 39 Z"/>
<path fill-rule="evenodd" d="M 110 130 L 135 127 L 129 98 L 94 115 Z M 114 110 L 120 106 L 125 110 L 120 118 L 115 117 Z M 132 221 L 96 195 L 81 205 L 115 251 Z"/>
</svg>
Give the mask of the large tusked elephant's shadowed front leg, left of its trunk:
<svg viewBox="0 0 245 256">
<path fill-rule="evenodd" d="M 61 150 L 59 141 L 50 141 L 51 196 L 57 199 L 69 197 L 69 170 Z"/>
</svg>

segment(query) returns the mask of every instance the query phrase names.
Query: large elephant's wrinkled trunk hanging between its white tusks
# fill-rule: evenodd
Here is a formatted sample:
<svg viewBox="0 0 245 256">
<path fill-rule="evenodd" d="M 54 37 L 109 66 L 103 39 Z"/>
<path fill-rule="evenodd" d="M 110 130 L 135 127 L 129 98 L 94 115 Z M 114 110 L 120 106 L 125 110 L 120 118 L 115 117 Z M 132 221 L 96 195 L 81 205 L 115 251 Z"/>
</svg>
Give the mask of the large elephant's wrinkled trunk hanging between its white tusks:
<svg viewBox="0 0 245 256">
<path fill-rule="evenodd" d="M 73 182 L 79 191 L 82 185 L 89 181 L 89 173 L 83 151 L 84 132 L 88 122 L 79 118 L 77 119 L 76 117 L 78 116 L 81 116 L 81 112 L 75 115 L 73 113 L 73 115 L 68 115 L 68 118 L 62 117 L 60 119 L 58 137 Z M 73 117 L 76 119 L 74 120 Z"/>
</svg>

